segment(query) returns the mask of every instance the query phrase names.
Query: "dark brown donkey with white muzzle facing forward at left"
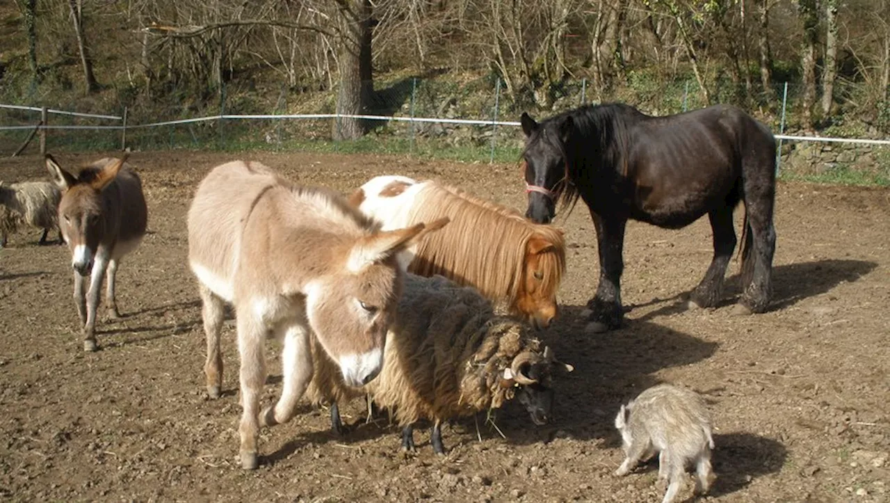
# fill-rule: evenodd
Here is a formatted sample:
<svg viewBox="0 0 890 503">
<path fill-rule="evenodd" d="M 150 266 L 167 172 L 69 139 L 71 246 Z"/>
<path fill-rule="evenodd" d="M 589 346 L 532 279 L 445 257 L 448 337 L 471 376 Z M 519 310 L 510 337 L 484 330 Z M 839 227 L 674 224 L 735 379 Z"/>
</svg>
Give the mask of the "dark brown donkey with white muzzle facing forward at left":
<svg viewBox="0 0 890 503">
<path fill-rule="evenodd" d="M 59 227 L 71 248 L 74 268 L 74 302 L 84 325 L 84 349 L 98 348 L 94 334 L 102 279 L 108 271 L 106 304 L 111 318 L 119 318 L 114 298 L 115 275 L 121 257 L 133 251 L 145 236 L 148 208 L 142 182 L 123 158 L 102 158 L 81 169 L 77 176 L 46 156 L 46 168 L 61 190 Z M 84 278 L 90 276 L 89 292 Z"/>
</svg>

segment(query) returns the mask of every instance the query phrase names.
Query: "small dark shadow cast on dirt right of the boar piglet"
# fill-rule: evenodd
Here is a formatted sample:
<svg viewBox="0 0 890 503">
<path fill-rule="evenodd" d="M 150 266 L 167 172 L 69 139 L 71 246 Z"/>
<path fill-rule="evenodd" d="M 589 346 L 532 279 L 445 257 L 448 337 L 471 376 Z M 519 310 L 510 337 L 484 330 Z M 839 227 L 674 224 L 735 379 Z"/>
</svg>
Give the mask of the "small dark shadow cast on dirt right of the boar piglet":
<svg viewBox="0 0 890 503">
<path fill-rule="evenodd" d="M 711 458 L 716 481 L 711 496 L 739 491 L 756 477 L 781 470 L 788 450 L 781 442 L 756 434 L 716 434 Z"/>
</svg>

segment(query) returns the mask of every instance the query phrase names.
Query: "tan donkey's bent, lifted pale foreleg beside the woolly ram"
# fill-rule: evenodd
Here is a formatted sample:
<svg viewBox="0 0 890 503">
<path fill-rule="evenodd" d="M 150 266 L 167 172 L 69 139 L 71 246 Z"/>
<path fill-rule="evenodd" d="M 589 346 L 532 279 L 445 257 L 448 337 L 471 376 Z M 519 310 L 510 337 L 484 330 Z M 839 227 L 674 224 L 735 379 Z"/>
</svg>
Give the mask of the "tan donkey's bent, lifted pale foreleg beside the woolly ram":
<svg viewBox="0 0 890 503">
<path fill-rule="evenodd" d="M 282 389 L 278 403 L 268 407 L 260 415 L 262 426 L 275 426 L 287 423 L 294 417 L 296 402 L 300 400 L 312 380 L 312 349 L 309 331 L 302 324 L 283 323 L 277 329 L 281 348 Z"/>
</svg>

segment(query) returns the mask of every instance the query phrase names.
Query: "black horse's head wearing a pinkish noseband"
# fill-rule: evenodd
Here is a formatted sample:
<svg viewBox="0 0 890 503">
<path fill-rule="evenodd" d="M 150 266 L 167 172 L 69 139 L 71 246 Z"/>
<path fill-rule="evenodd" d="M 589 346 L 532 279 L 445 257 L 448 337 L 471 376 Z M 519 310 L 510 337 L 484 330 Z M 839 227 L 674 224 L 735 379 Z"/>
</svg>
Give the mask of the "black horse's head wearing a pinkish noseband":
<svg viewBox="0 0 890 503">
<path fill-rule="evenodd" d="M 556 216 L 556 200 L 568 183 L 565 143 L 572 130 L 572 119 L 556 116 L 538 123 L 527 112 L 522 112 L 521 122 L 525 134 L 522 164 L 525 191 L 529 194 L 525 216 L 536 223 L 550 223 Z"/>
</svg>

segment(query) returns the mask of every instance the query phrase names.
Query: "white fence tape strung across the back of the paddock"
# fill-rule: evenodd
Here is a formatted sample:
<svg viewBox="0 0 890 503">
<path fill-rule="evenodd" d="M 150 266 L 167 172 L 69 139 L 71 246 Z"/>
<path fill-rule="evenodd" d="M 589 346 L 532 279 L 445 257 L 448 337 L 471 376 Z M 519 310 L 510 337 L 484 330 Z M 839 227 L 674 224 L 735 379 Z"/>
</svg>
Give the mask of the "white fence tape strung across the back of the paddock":
<svg viewBox="0 0 890 503">
<path fill-rule="evenodd" d="M 42 110 L 35 107 L 20 107 L 17 105 L 3 105 L 0 108 L 6 109 L 25 109 L 25 110 Z M 47 110 L 51 112 L 53 110 Z M 115 118 L 115 116 L 101 116 L 93 114 L 78 114 L 77 112 L 65 112 L 56 110 L 53 113 L 64 113 L 68 115 L 77 115 L 79 117 L 91 118 Z M 467 118 L 420 118 L 420 117 L 391 117 L 376 115 L 350 115 L 350 114 L 250 114 L 250 115 L 215 115 L 201 118 L 183 118 L 178 120 L 169 120 L 164 122 L 152 122 L 148 124 L 129 124 L 126 126 L 37 126 L 40 129 L 93 129 L 93 130 L 121 130 L 121 129 L 141 129 L 160 126 L 177 126 L 182 124 L 194 124 L 198 122 L 208 122 L 214 120 L 279 120 L 279 119 L 333 119 L 333 118 L 356 118 L 361 120 L 392 120 L 399 122 L 420 122 L 420 123 L 436 123 L 436 124 L 457 124 L 472 126 L 521 126 L 522 123 L 517 121 L 492 120 L 492 119 L 467 119 Z M 35 126 L 0 126 L 0 131 L 27 130 L 33 129 Z M 775 134 L 777 140 L 789 140 L 792 142 L 842 142 L 842 143 L 865 143 L 873 145 L 890 145 L 890 140 L 870 140 L 861 138 L 837 138 L 830 136 L 795 136 L 790 134 Z"/>
</svg>

